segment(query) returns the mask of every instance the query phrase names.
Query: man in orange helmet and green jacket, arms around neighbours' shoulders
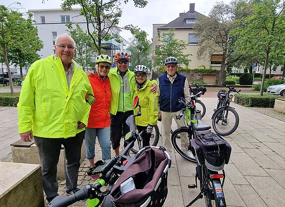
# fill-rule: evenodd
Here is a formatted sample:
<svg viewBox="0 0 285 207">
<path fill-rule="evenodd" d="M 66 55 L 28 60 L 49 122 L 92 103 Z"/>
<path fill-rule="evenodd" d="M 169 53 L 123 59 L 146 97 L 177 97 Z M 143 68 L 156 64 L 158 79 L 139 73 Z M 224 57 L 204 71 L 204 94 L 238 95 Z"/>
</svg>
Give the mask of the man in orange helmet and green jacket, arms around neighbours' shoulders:
<svg viewBox="0 0 285 207">
<path fill-rule="evenodd" d="M 119 155 L 122 130 L 124 134 L 130 131 L 126 124 L 127 118 L 134 114 L 132 97 L 136 86 L 135 73 L 129 69 L 131 57 L 128 52 L 117 52 L 114 55 L 116 67 L 110 70 L 108 76 L 111 84 L 111 142 L 115 155 Z M 92 71 L 87 71 L 88 76 L 93 76 Z M 151 92 L 156 93 L 156 81 L 151 82 Z"/>
</svg>

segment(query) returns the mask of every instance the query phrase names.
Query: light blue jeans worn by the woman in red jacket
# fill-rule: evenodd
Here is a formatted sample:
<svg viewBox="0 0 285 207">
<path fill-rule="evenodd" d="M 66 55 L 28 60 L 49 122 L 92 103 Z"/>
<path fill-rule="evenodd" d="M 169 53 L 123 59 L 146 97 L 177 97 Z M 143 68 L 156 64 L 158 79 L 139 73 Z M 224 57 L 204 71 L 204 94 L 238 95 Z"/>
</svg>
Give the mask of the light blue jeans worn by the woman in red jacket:
<svg viewBox="0 0 285 207">
<path fill-rule="evenodd" d="M 85 132 L 86 158 L 92 159 L 95 157 L 95 140 L 97 136 L 102 151 L 102 159 L 110 159 L 111 158 L 110 127 L 86 128 L 85 131 L 86 131 Z"/>
</svg>

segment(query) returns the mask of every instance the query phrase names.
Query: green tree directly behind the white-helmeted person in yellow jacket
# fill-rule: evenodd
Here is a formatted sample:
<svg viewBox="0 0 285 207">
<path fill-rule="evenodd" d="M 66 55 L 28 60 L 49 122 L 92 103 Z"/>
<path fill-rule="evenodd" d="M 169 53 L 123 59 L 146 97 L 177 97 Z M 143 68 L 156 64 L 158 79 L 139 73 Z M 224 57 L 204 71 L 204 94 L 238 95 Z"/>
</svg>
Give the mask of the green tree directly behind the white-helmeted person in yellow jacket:
<svg viewBox="0 0 285 207">
<path fill-rule="evenodd" d="M 147 40 L 147 33 L 138 27 L 133 27 L 133 25 L 127 25 L 126 28 L 133 34 L 127 48 L 132 52 L 132 69 L 134 69 L 136 65 L 145 65 L 148 69 L 151 69 L 151 64 L 149 64 L 148 60 L 151 44 L 149 40 Z"/>
</svg>

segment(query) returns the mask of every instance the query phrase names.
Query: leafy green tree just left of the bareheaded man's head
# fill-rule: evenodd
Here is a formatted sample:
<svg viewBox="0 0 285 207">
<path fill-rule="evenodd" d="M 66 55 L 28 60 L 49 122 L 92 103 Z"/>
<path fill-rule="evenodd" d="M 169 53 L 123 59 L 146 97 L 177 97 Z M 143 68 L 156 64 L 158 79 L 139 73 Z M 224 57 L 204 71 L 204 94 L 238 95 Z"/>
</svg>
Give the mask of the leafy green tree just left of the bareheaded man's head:
<svg viewBox="0 0 285 207">
<path fill-rule="evenodd" d="M 20 75 L 23 78 L 23 68 L 29 67 L 34 61 L 40 59 L 40 55 L 37 53 L 44 46 L 43 42 L 38 36 L 38 29 L 32 24 L 32 13 L 27 13 L 28 18 L 23 22 L 25 31 L 22 35 L 17 37 L 17 42 L 14 42 L 10 46 L 8 59 L 11 64 L 19 66 Z"/>
</svg>

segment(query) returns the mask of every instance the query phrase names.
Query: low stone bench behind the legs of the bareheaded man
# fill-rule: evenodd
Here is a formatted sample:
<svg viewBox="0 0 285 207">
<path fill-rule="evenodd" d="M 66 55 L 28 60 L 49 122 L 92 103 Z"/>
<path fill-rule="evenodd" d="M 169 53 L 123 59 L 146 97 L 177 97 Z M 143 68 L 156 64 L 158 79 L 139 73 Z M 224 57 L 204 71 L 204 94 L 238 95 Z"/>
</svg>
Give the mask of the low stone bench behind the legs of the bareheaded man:
<svg viewBox="0 0 285 207">
<path fill-rule="evenodd" d="M 41 164 L 40 156 L 38 153 L 38 148 L 32 140 L 32 142 L 24 142 L 22 140 L 18 140 L 11 144 L 12 148 L 12 161 L 19 163 L 30 163 L 30 164 Z M 86 157 L 85 151 L 85 140 L 83 140 L 83 145 L 81 148 L 81 159 L 82 162 Z M 57 177 L 59 179 L 65 179 L 65 169 L 66 159 L 64 153 L 64 147 L 61 146 L 59 160 L 57 163 Z"/>
</svg>

